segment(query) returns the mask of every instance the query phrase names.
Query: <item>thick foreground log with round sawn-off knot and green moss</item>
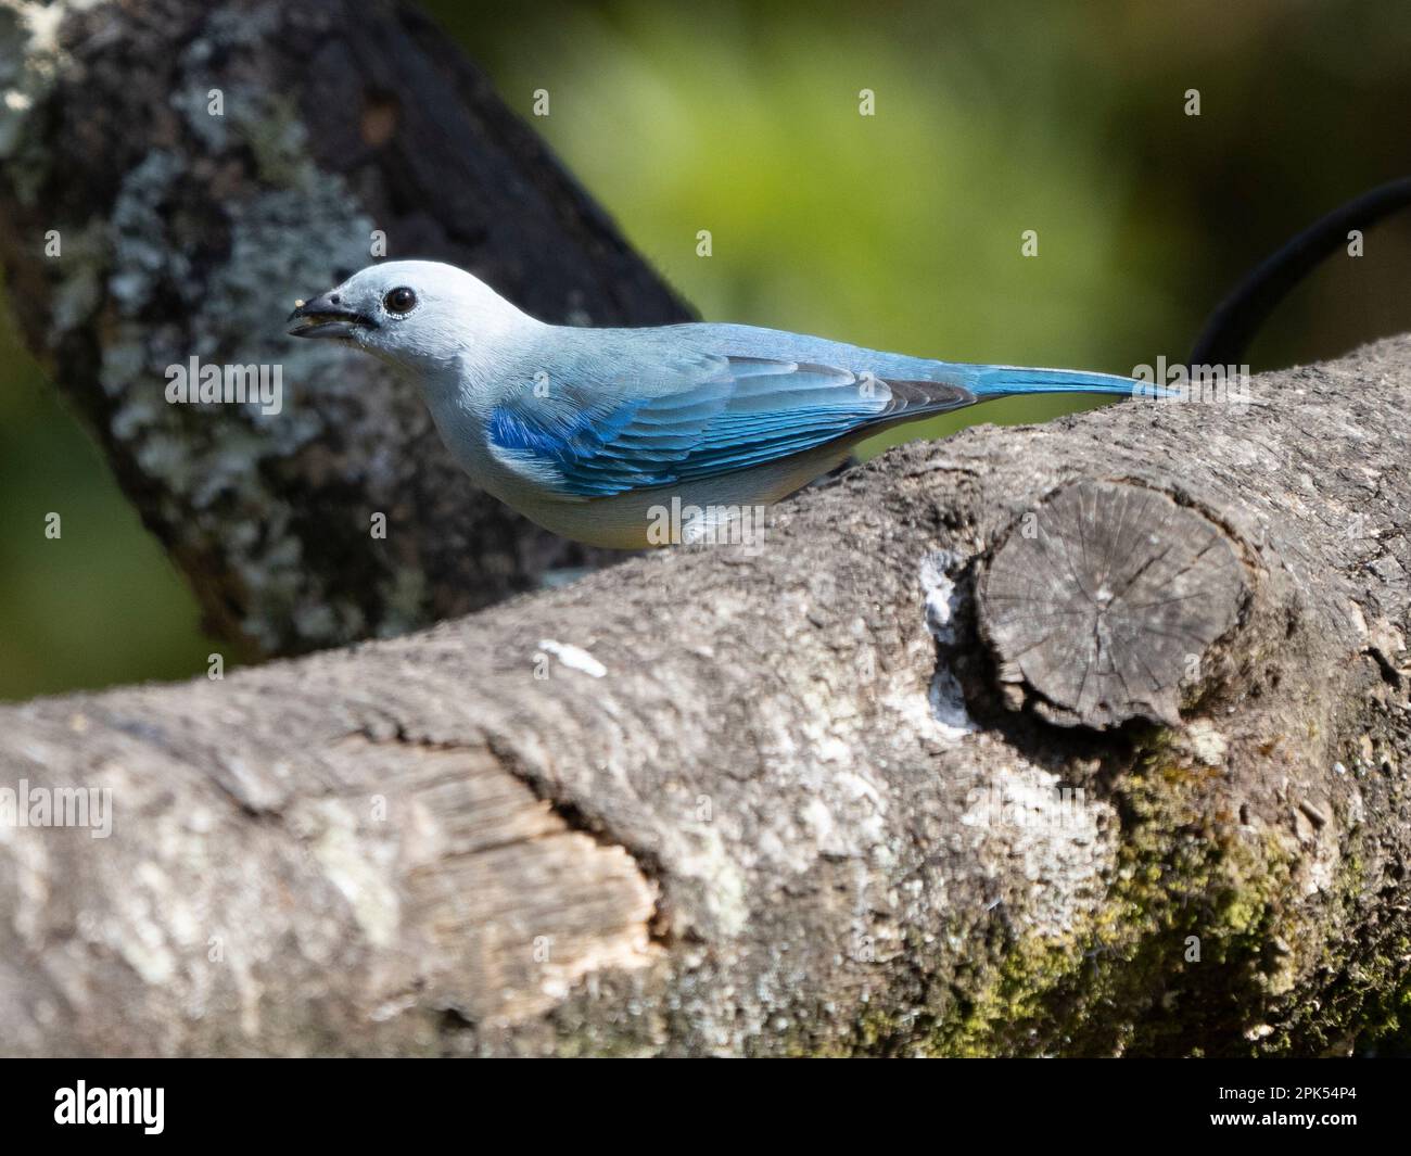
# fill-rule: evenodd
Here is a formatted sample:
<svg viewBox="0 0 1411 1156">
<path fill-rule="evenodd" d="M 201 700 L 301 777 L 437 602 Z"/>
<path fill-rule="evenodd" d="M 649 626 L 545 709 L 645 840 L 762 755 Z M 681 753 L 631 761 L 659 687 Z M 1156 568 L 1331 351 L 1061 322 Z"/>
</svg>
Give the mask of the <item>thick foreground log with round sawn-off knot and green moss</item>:
<svg viewBox="0 0 1411 1156">
<path fill-rule="evenodd" d="M 0 709 L 6 1052 L 1309 1054 L 1411 975 L 1411 340 Z"/>
</svg>

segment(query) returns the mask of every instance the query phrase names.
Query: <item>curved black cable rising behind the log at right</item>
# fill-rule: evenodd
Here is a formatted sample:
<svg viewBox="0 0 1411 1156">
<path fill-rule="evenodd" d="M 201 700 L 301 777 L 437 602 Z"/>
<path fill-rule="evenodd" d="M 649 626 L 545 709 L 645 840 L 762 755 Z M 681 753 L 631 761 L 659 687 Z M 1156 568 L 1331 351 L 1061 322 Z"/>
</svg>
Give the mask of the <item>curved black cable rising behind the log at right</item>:
<svg viewBox="0 0 1411 1156">
<path fill-rule="evenodd" d="M 1240 364 L 1250 339 L 1278 302 L 1325 257 L 1345 246 L 1350 230 L 1367 229 L 1407 205 L 1411 205 L 1411 176 L 1379 185 L 1311 224 L 1260 263 L 1219 303 L 1195 339 L 1188 364 Z"/>
</svg>

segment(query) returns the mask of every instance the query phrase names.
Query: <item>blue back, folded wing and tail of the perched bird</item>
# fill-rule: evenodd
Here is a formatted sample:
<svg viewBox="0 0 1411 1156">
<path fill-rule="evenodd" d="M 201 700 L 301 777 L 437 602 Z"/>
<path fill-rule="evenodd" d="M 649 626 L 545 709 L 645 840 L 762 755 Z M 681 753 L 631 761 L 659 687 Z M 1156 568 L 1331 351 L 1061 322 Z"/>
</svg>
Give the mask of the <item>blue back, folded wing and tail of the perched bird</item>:
<svg viewBox="0 0 1411 1156">
<path fill-rule="evenodd" d="M 502 462 L 586 498 L 751 469 L 992 397 L 1133 385 L 1106 374 L 926 361 L 746 326 L 559 333 L 591 335 L 580 339 L 591 346 L 570 349 L 550 374 L 566 384 L 545 397 L 528 384 L 507 390 L 487 432 Z M 721 344 L 737 353 L 715 351 Z"/>
</svg>

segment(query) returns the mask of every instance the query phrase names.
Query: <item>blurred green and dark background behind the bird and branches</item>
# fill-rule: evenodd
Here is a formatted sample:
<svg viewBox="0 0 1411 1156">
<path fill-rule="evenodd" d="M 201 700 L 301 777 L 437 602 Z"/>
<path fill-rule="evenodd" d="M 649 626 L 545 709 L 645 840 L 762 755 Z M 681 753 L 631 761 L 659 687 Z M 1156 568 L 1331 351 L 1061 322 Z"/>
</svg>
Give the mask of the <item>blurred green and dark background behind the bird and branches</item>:
<svg viewBox="0 0 1411 1156">
<path fill-rule="evenodd" d="M 1384 0 L 428 7 L 710 320 L 1129 373 L 1182 360 L 1253 263 L 1411 174 L 1411 8 Z M 1408 271 L 1390 222 L 1297 291 L 1253 368 L 1411 330 Z M 7 315 L 0 367 L 0 699 L 203 672 L 190 594 Z"/>
</svg>

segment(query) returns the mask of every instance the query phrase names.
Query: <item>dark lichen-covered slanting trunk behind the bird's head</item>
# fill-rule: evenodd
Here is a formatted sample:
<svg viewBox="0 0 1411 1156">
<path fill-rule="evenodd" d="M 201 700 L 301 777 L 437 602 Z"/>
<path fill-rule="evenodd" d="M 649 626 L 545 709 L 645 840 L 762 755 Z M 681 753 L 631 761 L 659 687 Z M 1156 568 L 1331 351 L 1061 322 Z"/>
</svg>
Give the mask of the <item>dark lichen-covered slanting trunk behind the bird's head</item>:
<svg viewBox="0 0 1411 1156">
<path fill-rule="evenodd" d="M 0 95 L 11 305 L 213 634 L 298 654 L 604 560 L 476 491 L 385 367 L 285 335 L 375 230 L 546 320 L 687 318 L 415 10 L 0 0 Z M 278 366 L 282 411 L 168 404 L 192 357 Z"/>
</svg>

